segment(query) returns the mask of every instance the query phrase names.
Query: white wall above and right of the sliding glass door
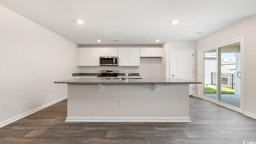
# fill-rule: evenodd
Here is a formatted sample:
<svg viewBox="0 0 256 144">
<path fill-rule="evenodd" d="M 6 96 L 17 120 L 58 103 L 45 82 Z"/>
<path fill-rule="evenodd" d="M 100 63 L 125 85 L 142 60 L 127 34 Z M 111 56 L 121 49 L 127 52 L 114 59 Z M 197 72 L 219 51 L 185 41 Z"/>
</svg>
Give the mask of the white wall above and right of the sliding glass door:
<svg viewBox="0 0 256 144">
<path fill-rule="evenodd" d="M 211 46 L 213 44 L 217 44 L 241 35 L 244 35 L 245 112 L 256 117 L 256 16 L 230 26 L 224 30 L 221 30 L 220 32 L 216 32 L 215 34 L 212 34 L 206 38 L 198 40 L 196 42 L 196 49 Z"/>
</svg>

